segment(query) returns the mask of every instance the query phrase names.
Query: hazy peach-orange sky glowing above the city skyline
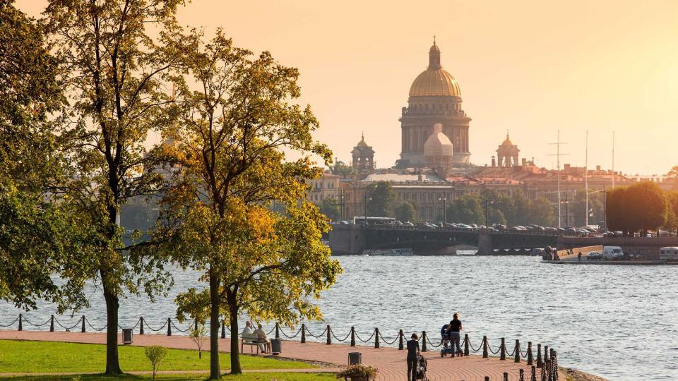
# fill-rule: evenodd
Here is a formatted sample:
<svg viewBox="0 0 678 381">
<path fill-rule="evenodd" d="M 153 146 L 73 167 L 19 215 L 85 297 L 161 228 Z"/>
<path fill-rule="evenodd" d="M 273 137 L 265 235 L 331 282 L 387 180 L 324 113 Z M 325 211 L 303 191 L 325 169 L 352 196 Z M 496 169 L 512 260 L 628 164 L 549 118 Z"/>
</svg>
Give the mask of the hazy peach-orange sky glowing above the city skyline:
<svg viewBox="0 0 678 381">
<path fill-rule="evenodd" d="M 47 1 L 16 0 L 30 16 Z M 474 164 L 509 131 L 521 157 L 625 174 L 678 165 L 678 1 L 193 0 L 182 25 L 221 27 L 234 44 L 299 68 L 315 138 L 349 162 L 364 132 L 377 167 L 400 154 L 401 107 L 433 35 L 460 85 Z"/>
</svg>

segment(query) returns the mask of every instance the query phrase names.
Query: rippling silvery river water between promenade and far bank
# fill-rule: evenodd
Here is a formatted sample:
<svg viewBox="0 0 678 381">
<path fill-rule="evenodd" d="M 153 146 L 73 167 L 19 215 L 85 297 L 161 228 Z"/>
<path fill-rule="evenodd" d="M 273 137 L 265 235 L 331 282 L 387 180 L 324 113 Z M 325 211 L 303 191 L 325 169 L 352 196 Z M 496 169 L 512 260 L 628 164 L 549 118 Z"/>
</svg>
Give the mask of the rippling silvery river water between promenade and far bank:
<svg viewBox="0 0 678 381">
<path fill-rule="evenodd" d="M 379 327 L 390 341 L 398 329 L 408 336 L 425 329 L 437 343 L 441 325 L 457 312 L 473 346 L 487 335 L 494 349 L 506 337 L 512 351 L 515 339 L 521 339 L 523 350 L 527 341 L 533 341 L 535 351 L 537 343 L 552 346 L 560 365 L 610 380 L 678 380 L 678 267 L 550 265 L 535 257 L 472 255 L 338 260 L 345 272 L 323 293 L 319 303 L 326 321 L 309 323 L 313 334 L 330 324 L 343 339 L 355 326 L 367 339 Z M 174 316 L 177 292 L 200 286 L 197 278 L 196 272 L 175 270 L 169 296 L 156 303 L 122 301 L 121 325 L 134 325 L 143 315 L 152 327 L 160 327 Z M 78 315 L 101 327 L 102 300 L 100 292 L 93 292 L 93 308 Z M 42 303 L 25 316 L 40 324 L 51 313 L 53 306 Z M 0 325 L 17 314 L 13 306 L 0 303 Z M 64 326 L 77 319 L 59 317 Z"/>
</svg>

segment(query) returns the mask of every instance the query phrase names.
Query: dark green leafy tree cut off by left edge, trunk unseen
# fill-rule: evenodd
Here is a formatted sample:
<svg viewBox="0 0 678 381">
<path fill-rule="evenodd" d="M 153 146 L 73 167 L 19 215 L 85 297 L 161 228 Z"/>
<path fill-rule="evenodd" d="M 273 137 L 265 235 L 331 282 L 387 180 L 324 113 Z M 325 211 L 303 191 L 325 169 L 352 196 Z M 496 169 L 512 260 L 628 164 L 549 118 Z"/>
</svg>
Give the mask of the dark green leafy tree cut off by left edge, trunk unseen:
<svg viewBox="0 0 678 381">
<path fill-rule="evenodd" d="M 65 98 L 57 61 L 44 29 L 0 0 L 0 299 L 37 308 L 38 299 L 67 306 L 85 303 L 73 260 L 86 229 L 61 207 L 48 185 L 61 174 L 54 120 Z"/>
</svg>

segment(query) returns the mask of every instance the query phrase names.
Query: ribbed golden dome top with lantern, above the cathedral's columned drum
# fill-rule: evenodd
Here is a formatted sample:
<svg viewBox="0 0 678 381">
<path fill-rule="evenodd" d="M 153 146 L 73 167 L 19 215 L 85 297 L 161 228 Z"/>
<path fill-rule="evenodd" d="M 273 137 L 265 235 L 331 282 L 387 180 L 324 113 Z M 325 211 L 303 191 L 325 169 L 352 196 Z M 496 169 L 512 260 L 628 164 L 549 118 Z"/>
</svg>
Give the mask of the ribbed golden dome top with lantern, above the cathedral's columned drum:
<svg viewBox="0 0 678 381">
<path fill-rule="evenodd" d="M 417 75 L 410 97 L 461 97 L 457 81 L 440 65 L 440 49 L 435 42 L 429 49 L 429 67 Z"/>
</svg>

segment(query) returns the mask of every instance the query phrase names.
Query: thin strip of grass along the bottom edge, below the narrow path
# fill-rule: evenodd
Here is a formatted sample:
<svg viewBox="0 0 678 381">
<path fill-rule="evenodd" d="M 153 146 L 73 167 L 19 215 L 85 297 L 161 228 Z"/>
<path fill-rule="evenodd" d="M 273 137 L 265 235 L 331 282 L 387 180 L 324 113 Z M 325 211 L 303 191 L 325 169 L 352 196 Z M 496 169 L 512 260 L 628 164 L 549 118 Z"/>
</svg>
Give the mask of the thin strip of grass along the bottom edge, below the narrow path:
<svg viewBox="0 0 678 381">
<path fill-rule="evenodd" d="M 122 375 L 118 377 L 106 377 L 103 375 L 79 375 L 79 376 L 28 376 L 28 377 L 11 377 L 2 378 L 0 380 L 11 381 L 147 381 L 151 380 L 150 375 Z M 206 380 L 207 375 L 157 375 L 155 380 L 160 381 L 188 381 L 188 380 Z M 223 375 L 224 381 L 331 381 L 336 380 L 333 373 L 246 373 L 237 376 Z"/>
</svg>

